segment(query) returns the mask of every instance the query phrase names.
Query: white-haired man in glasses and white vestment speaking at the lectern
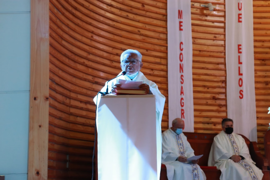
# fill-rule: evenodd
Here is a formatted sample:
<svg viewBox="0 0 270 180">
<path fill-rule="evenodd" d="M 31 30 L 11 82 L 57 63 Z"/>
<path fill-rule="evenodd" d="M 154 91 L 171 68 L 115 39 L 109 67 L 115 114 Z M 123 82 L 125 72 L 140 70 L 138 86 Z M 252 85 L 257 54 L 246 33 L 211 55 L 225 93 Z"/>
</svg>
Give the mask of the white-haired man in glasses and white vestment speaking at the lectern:
<svg viewBox="0 0 270 180">
<path fill-rule="evenodd" d="M 115 89 L 121 88 L 121 84 L 119 83 L 119 79 L 127 80 L 127 81 L 143 81 L 143 83 L 139 86 L 140 89 L 145 89 L 146 94 L 155 95 L 156 102 L 156 136 L 157 136 L 157 178 L 159 180 L 160 177 L 160 169 L 161 169 L 161 145 L 162 145 L 162 137 L 161 137 L 161 119 L 164 110 L 165 97 L 158 90 L 158 86 L 148 80 L 146 76 L 140 69 L 143 67 L 142 63 L 142 55 L 137 50 L 128 49 L 125 50 L 120 56 L 120 67 L 122 71 L 125 71 L 126 74 L 122 75 L 122 72 L 119 73 L 119 77 L 106 82 L 105 86 L 101 89 L 101 92 L 109 92 L 111 94 L 115 94 Z M 94 102 L 98 103 L 100 101 L 100 95 L 94 98 Z M 140 112 L 138 112 L 140 113 Z M 153 125 L 154 125 L 153 123 Z M 140 133 L 140 132 L 138 132 Z M 121 178 L 119 178 L 121 179 Z"/>
</svg>

